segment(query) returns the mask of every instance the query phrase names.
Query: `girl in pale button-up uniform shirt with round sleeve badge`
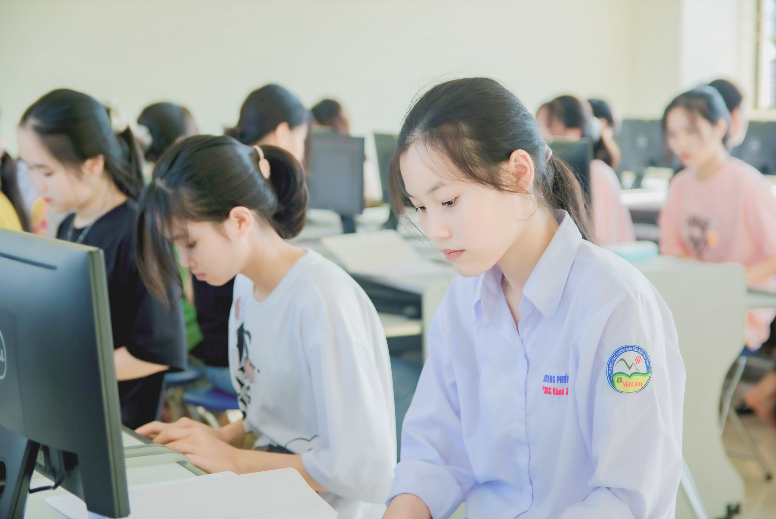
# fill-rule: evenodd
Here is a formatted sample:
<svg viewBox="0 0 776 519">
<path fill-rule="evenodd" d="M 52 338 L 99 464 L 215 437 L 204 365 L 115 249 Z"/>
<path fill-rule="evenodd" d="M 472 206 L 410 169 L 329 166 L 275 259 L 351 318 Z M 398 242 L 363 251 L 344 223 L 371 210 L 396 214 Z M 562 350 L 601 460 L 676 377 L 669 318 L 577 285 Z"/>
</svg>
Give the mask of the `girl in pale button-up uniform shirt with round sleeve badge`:
<svg viewBox="0 0 776 519">
<path fill-rule="evenodd" d="M 684 364 L 660 294 L 591 244 L 576 178 L 489 78 L 404 120 L 394 207 L 461 274 L 428 332 L 384 517 L 674 517 Z"/>
</svg>

